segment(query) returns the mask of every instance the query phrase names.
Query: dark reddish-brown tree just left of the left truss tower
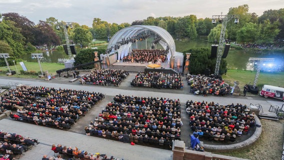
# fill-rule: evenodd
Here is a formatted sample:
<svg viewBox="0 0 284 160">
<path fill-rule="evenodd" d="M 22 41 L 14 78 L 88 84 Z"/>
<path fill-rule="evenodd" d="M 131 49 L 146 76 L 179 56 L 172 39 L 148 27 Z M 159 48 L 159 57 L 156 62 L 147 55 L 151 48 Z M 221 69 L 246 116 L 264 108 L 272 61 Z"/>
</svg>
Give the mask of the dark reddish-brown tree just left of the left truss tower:
<svg viewBox="0 0 284 160">
<path fill-rule="evenodd" d="M 47 47 L 50 47 L 51 45 L 60 44 L 59 37 L 52 27 L 45 21 L 39 20 L 35 28 L 36 31 L 34 33 L 34 38 L 36 39 L 36 45 L 47 45 Z"/>
</svg>

